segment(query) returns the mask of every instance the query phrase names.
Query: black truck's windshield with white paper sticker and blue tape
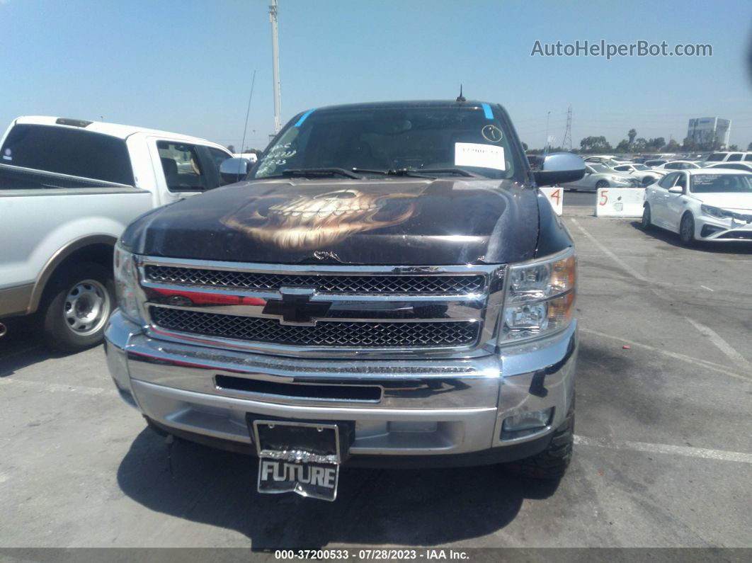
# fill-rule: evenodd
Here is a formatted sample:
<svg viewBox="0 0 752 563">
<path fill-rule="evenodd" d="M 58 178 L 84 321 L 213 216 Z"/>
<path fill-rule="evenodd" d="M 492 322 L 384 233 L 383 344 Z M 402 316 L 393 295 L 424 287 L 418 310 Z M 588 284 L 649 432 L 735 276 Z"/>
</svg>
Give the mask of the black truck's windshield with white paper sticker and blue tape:
<svg viewBox="0 0 752 563">
<path fill-rule="evenodd" d="M 511 142 L 506 121 L 488 104 L 311 110 L 287 125 L 250 177 L 338 168 L 519 179 L 524 168 Z"/>
</svg>

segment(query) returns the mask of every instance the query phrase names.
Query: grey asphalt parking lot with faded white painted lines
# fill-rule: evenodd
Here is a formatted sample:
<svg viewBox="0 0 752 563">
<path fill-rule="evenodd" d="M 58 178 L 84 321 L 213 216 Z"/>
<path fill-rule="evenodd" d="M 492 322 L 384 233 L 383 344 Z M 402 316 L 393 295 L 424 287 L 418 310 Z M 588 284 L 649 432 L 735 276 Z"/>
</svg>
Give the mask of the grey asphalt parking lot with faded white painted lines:
<svg viewBox="0 0 752 563">
<path fill-rule="evenodd" d="M 593 196 L 594 197 L 594 196 Z M 338 500 L 258 495 L 256 460 L 164 438 L 102 348 L 0 341 L 0 547 L 752 546 L 752 246 L 688 250 L 568 207 L 581 351 L 559 483 L 497 467 L 345 470 Z"/>
</svg>

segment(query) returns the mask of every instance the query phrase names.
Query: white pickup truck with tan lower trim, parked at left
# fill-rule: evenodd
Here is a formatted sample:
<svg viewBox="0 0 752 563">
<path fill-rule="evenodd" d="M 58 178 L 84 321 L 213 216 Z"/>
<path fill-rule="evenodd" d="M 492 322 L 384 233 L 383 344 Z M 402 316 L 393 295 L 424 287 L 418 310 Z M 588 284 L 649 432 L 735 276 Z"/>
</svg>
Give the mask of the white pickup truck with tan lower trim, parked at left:
<svg viewBox="0 0 752 563">
<path fill-rule="evenodd" d="M 148 210 L 222 183 L 219 144 L 138 127 L 20 117 L 0 141 L 2 319 L 38 313 L 47 341 L 80 350 L 114 309 L 112 257 Z"/>
</svg>

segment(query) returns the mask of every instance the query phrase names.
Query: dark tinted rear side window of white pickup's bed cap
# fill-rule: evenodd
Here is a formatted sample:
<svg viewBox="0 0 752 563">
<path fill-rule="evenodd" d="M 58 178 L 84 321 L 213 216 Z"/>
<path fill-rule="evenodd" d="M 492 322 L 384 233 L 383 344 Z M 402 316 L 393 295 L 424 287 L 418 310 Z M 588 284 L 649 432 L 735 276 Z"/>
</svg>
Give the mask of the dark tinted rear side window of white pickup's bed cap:
<svg viewBox="0 0 752 563">
<path fill-rule="evenodd" d="M 80 127 L 17 124 L 0 154 L 5 165 L 134 185 L 126 141 Z"/>
</svg>

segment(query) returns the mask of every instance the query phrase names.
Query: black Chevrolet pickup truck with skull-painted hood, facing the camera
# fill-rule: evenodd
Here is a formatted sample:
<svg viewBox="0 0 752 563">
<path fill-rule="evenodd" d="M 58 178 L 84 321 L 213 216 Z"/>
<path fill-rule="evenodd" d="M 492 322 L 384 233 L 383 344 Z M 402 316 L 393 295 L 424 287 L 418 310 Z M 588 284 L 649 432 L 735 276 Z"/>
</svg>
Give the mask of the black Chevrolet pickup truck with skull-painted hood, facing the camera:
<svg viewBox="0 0 752 563">
<path fill-rule="evenodd" d="M 259 492 L 333 500 L 341 465 L 561 477 L 576 259 L 536 186 L 583 173 L 531 171 L 498 104 L 305 111 L 244 181 L 126 229 L 117 388 L 156 431 L 258 456 Z"/>
</svg>

